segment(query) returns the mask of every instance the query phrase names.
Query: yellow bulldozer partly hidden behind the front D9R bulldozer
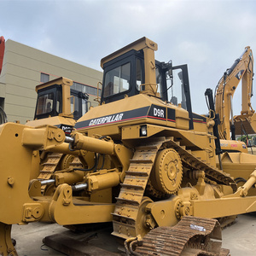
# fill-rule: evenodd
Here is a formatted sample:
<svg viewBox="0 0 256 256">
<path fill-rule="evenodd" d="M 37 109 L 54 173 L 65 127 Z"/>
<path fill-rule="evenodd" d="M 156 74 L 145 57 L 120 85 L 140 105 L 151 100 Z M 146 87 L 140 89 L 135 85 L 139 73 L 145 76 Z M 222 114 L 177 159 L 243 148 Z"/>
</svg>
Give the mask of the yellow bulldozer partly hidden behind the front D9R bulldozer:
<svg viewBox="0 0 256 256">
<path fill-rule="evenodd" d="M 76 121 L 88 111 L 88 94 L 73 88 L 73 80 L 66 78 L 53 79 L 36 86 L 38 99 L 34 119 L 27 121 L 26 125 L 36 127 L 39 125 L 53 125 L 60 128 L 67 136 L 73 131 Z M 73 154 L 59 152 L 34 152 L 33 167 L 38 168 L 38 179 L 48 183 L 55 171 L 67 169 L 73 163 L 79 166 Z M 38 158 L 36 157 L 38 156 Z M 38 162 L 41 165 L 38 165 Z M 74 164 L 75 163 L 75 164 Z M 42 182 L 41 182 L 42 183 Z M 52 187 L 52 186 L 51 186 Z M 51 194 L 50 188 L 42 186 L 45 195 Z"/>
</svg>

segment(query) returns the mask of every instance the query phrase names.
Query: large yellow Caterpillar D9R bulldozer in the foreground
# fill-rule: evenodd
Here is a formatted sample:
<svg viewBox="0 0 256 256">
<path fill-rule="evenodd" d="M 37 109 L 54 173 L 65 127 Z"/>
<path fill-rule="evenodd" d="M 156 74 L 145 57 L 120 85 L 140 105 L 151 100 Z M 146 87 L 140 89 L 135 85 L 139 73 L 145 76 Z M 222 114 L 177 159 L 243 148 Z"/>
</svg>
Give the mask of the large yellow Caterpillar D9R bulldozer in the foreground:
<svg viewBox="0 0 256 256">
<path fill-rule="evenodd" d="M 0 126 L 3 255 L 16 254 L 11 225 L 35 221 L 112 222 L 113 236 L 130 249 L 140 236 L 150 236 L 154 243 L 144 242 L 140 251 L 147 255 L 160 255 L 161 247 L 166 255 L 218 255 L 220 243 L 211 238 L 220 239 L 219 226 L 207 218 L 256 210 L 256 196 L 246 196 L 256 180 L 255 157 L 248 156 L 252 174 L 237 189 L 217 167 L 214 120 L 192 112 L 187 66 L 155 61 L 156 49 L 141 38 L 102 59 L 101 103 L 78 120 L 70 137 L 49 125 Z M 37 150 L 78 155 L 82 167 L 54 172 L 44 183 L 32 178 Z M 52 187 L 49 195 L 42 194 L 43 185 Z M 179 242 L 166 238 L 168 251 L 158 236 Z"/>
</svg>

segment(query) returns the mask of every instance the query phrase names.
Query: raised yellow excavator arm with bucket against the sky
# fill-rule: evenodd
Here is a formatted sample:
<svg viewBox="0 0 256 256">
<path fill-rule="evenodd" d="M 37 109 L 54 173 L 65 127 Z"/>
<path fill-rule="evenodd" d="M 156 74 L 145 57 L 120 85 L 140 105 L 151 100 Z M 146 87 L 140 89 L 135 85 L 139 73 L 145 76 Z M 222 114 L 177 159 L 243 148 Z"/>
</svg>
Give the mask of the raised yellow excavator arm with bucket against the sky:
<svg viewBox="0 0 256 256">
<path fill-rule="evenodd" d="M 238 84 L 241 82 L 241 114 L 233 116 L 232 99 Z M 219 136 L 222 139 L 232 139 L 236 134 L 241 134 L 241 124 L 247 123 L 250 129 L 247 133 L 256 131 L 256 122 L 254 125 L 254 110 L 251 105 L 253 96 L 253 52 L 247 46 L 241 57 L 236 59 L 234 64 L 228 69 L 219 80 L 215 94 L 216 113 L 220 117 Z M 230 120 L 231 119 L 231 120 Z M 231 122 L 231 125 L 230 125 Z M 237 129 L 235 128 L 237 127 Z"/>
</svg>

